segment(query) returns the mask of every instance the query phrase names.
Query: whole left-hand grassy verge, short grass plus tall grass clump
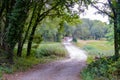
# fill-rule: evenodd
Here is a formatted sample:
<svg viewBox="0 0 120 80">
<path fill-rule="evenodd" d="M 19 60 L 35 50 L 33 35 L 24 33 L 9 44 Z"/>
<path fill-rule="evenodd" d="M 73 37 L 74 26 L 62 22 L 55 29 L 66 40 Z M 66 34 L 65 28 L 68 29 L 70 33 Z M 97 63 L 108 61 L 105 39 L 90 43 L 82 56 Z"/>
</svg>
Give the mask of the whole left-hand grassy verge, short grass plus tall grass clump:
<svg viewBox="0 0 120 80">
<path fill-rule="evenodd" d="M 24 47 L 22 53 L 22 57 L 14 57 L 14 65 L 7 66 L 7 64 L 2 64 L 0 66 L 0 76 L 2 76 L 4 72 L 13 73 L 16 71 L 25 71 L 33 65 L 63 59 L 67 55 L 67 51 L 61 43 L 42 43 L 37 49 L 36 47 L 32 49 L 32 55 L 30 57 L 25 56 L 26 47 Z"/>
</svg>

